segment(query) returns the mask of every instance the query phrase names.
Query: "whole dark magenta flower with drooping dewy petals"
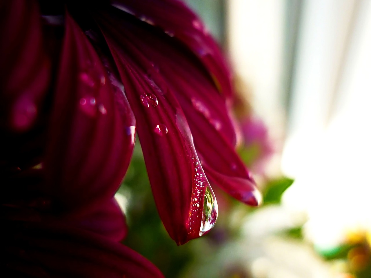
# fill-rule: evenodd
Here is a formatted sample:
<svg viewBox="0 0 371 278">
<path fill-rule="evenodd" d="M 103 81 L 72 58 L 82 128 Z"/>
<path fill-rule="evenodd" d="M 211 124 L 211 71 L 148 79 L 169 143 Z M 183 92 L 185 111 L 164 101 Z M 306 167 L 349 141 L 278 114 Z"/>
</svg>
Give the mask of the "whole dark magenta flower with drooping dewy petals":
<svg viewBox="0 0 371 278">
<path fill-rule="evenodd" d="M 0 9 L 7 269 L 161 276 L 119 244 L 126 225 L 113 195 L 136 131 L 177 244 L 216 221 L 208 180 L 259 204 L 234 150 L 230 72 L 182 2 L 14 0 Z"/>
</svg>

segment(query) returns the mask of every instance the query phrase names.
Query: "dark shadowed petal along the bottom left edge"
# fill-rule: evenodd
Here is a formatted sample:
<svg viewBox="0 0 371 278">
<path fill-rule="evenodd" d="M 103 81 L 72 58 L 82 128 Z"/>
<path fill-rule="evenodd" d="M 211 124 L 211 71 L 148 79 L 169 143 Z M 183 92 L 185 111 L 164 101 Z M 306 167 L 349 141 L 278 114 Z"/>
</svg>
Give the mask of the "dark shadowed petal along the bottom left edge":
<svg viewBox="0 0 371 278">
<path fill-rule="evenodd" d="M 8 246 L 7 273 L 39 274 L 36 277 L 163 277 L 151 262 L 127 246 L 65 224 L 23 226 L 16 238 L 10 236 Z"/>
</svg>

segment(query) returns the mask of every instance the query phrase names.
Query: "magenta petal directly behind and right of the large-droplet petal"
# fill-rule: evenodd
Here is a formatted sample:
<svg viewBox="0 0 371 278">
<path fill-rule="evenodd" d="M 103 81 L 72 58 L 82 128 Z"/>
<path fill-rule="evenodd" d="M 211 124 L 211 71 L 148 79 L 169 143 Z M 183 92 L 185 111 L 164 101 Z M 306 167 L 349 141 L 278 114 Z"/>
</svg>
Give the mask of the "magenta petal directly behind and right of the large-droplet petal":
<svg viewBox="0 0 371 278">
<path fill-rule="evenodd" d="M 158 72 L 142 60 L 137 63 L 148 69 L 148 75 L 159 87 L 165 87 L 177 97 L 194 137 L 197 153 L 206 163 L 207 176 L 234 198 L 258 205 L 260 193 L 233 147 L 236 136 L 225 99 L 216 92 L 187 49 L 161 36 L 152 26 L 134 24 L 135 21 L 131 24 L 133 19 L 129 16 L 125 19 L 112 19 L 116 20 L 116 30 L 121 34 L 123 44 L 131 51 L 131 56 L 145 56 L 142 60 L 150 60 Z M 129 45 L 137 53 L 130 50 Z"/>
</svg>

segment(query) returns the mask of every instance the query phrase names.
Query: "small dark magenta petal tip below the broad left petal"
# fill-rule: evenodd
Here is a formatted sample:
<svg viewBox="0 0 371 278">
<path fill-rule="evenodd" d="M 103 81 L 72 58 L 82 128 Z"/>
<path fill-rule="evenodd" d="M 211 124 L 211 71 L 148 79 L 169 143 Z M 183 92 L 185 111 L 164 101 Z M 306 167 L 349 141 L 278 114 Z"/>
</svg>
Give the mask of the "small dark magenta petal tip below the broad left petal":
<svg viewBox="0 0 371 278">
<path fill-rule="evenodd" d="M 100 204 L 89 214 L 79 216 L 77 219 L 72 218 L 69 221 L 74 226 L 117 242 L 124 239 L 128 231 L 125 216 L 114 198 Z"/>
</svg>

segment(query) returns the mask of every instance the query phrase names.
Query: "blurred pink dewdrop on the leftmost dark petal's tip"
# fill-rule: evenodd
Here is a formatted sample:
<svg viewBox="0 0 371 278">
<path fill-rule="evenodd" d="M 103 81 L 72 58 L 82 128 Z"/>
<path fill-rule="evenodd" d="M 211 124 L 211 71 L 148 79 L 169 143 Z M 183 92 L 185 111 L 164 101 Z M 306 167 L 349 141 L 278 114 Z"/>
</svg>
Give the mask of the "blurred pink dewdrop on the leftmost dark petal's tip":
<svg viewBox="0 0 371 278">
<path fill-rule="evenodd" d="M 35 103 L 27 97 L 21 97 L 12 110 L 13 127 L 19 130 L 29 128 L 37 115 Z"/>
</svg>

